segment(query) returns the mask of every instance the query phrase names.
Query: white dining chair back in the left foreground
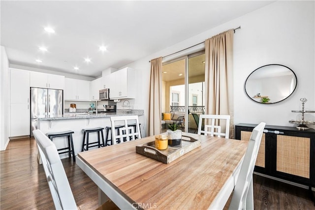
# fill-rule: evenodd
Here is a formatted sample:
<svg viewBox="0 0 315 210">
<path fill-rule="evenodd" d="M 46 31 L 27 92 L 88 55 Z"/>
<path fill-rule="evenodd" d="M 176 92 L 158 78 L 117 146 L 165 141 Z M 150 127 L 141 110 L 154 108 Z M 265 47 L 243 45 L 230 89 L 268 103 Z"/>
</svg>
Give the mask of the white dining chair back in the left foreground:
<svg viewBox="0 0 315 210">
<path fill-rule="evenodd" d="M 57 210 L 77 210 L 63 163 L 55 144 L 40 130 L 33 130 L 46 179 Z"/>
</svg>

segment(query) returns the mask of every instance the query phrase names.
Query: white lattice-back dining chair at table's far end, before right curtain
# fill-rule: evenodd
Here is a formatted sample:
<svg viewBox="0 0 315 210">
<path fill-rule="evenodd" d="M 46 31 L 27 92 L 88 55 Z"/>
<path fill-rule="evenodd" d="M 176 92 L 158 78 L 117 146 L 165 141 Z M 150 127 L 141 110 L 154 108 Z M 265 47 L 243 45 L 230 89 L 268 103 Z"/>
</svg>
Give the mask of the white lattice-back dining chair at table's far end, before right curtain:
<svg viewBox="0 0 315 210">
<path fill-rule="evenodd" d="M 225 132 L 221 132 L 221 126 L 219 124 L 219 120 L 225 120 Z M 203 123 L 204 121 L 204 123 Z M 199 123 L 198 123 L 198 134 L 201 135 L 210 135 L 210 136 L 218 136 L 218 137 L 229 137 L 229 129 L 230 129 L 230 116 L 229 115 L 200 115 Z"/>
</svg>

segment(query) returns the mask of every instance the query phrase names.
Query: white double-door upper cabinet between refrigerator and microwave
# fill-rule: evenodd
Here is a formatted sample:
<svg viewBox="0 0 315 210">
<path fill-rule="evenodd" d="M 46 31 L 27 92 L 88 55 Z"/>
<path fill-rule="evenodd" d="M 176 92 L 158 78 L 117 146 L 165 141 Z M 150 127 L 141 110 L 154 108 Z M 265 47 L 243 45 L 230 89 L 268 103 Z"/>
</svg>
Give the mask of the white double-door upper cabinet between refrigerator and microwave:
<svg viewBox="0 0 315 210">
<path fill-rule="evenodd" d="M 90 81 L 65 78 L 64 100 L 89 101 Z"/>
</svg>

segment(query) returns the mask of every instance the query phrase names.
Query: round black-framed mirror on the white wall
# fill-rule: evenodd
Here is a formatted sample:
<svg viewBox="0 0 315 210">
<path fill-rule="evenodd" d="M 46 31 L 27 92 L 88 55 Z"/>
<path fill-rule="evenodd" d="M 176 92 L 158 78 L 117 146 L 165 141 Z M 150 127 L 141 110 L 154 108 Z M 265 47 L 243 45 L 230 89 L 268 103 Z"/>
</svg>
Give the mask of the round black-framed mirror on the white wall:
<svg viewBox="0 0 315 210">
<path fill-rule="evenodd" d="M 245 91 L 253 101 L 273 104 L 289 97 L 296 85 L 296 75 L 290 68 L 269 64 L 257 68 L 248 76 Z"/>
</svg>

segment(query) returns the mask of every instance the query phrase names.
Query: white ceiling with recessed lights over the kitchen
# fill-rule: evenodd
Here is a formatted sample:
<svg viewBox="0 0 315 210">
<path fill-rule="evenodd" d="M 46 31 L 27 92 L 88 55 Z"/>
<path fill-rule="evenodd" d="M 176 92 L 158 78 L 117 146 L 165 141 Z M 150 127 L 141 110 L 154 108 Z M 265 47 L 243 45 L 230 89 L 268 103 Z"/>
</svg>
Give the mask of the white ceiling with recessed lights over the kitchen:
<svg viewBox="0 0 315 210">
<path fill-rule="evenodd" d="M 97 77 L 271 2 L 1 0 L 1 45 L 11 64 Z"/>
</svg>

